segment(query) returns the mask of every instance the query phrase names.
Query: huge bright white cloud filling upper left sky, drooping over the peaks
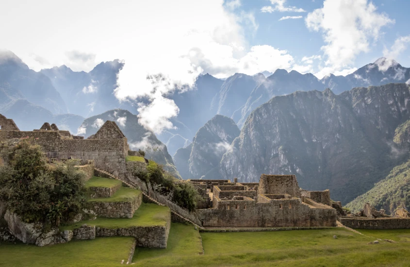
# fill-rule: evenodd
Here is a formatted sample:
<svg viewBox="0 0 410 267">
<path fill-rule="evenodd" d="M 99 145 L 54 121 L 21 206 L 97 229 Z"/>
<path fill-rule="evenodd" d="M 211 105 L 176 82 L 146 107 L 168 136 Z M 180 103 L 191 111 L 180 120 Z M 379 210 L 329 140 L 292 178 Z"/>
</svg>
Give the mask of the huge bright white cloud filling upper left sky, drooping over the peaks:
<svg viewBox="0 0 410 267">
<path fill-rule="evenodd" d="M 293 57 L 286 50 L 249 45 L 247 34 L 254 33 L 258 23 L 251 12 L 240 10 L 238 3 L 229 4 L 235 7 L 233 12 L 223 0 L 161 4 L 125 0 L 122 5 L 110 0 L 72 0 L 69 4 L 8 1 L 0 9 L 0 25 L 13 27 L 0 27 L 0 36 L 10 36 L 3 38 L 1 45 L 13 49 L 36 71 L 42 66 L 33 54 L 41 55 L 51 66 L 65 64 L 78 71 L 90 71 L 103 61 L 124 60 L 115 96 L 146 103 L 139 107 L 140 122 L 160 132 L 174 127 L 169 119 L 179 110 L 167 99 L 169 94 L 192 87 L 200 73 L 223 78 L 235 72 L 253 75 L 292 66 Z M 285 8 L 283 3 L 275 3 L 275 7 Z M 21 21 L 30 21 L 31 27 Z M 32 29 L 38 31 L 33 34 Z M 20 33 L 17 38 L 11 38 L 16 32 Z M 27 43 L 41 45 L 24 45 Z M 84 93 L 98 90 L 97 83 L 91 85 L 85 86 Z M 166 108 L 162 110 L 163 103 Z M 95 102 L 90 103 L 90 110 L 94 106 Z M 157 122 L 160 127 L 154 126 Z"/>
</svg>

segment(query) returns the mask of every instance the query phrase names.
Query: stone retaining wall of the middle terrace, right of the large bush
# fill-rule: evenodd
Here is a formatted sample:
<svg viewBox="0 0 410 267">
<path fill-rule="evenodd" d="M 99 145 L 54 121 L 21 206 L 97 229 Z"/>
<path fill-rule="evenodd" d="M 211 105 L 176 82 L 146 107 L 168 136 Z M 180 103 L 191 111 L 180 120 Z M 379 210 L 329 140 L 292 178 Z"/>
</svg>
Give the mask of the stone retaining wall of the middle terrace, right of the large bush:
<svg viewBox="0 0 410 267">
<path fill-rule="evenodd" d="M 142 202 L 142 194 L 129 202 L 105 202 L 89 201 L 89 209 L 93 210 L 99 217 L 108 218 L 132 218 L 134 212 Z"/>
</svg>

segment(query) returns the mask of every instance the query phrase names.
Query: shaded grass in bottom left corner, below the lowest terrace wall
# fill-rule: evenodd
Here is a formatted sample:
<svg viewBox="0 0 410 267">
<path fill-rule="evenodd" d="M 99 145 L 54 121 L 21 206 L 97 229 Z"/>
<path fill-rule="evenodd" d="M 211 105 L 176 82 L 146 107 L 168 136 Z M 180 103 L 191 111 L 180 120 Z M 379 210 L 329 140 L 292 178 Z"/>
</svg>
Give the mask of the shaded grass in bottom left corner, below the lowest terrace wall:
<svg viewBox="0 0 410 267">
<path fill-rule="evenodd" d="M 49 247 L 1 242 L 0 266 L 123 266 L 120 262 L 127 262 L 133 240 L 129 236 L 98 237 Z"/>
</svg>

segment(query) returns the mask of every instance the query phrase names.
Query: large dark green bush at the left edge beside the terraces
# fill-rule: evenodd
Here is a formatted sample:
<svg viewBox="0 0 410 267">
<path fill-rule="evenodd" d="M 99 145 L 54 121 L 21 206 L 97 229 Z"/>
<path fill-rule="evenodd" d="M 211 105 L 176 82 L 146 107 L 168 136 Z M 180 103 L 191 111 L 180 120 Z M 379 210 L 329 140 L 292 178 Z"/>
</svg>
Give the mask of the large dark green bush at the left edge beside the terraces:
<svg viewBox="0 0 410 267">
<path fill-rule="evenodd" d="M 27 139 L 4 142 L 0 150 L 0 201 L 24 221 L 58 226 L 81 210 L 85 173 L 76 161 L 50 165 Z"/>
</svg>

